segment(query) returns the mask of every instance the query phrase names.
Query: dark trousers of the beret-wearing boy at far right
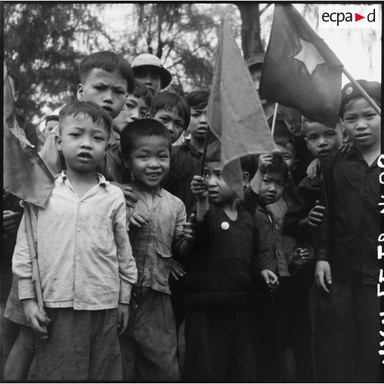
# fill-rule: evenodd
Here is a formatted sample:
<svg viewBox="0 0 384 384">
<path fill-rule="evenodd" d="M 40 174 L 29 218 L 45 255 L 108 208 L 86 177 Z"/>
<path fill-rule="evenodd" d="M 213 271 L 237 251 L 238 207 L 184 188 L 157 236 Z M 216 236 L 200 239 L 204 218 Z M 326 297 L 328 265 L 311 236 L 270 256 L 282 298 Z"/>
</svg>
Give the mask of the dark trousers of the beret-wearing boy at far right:
<svg viewBox="0 0 384 384">
<path fill-rule="evenodd" d="M 314 350 L 321 382 L 382 383 L 377 287 L 332 278 L 317 288 Z"/>
</svg>

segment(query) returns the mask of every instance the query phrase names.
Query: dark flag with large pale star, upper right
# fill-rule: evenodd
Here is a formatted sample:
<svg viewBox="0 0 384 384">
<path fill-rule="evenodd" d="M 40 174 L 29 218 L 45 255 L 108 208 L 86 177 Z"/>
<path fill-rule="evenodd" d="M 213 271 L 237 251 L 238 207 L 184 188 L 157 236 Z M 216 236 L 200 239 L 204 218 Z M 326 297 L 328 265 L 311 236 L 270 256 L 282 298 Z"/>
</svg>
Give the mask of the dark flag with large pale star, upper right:
<svg viewBox="0 0 384 384">
<path fill-rule="evenodd" d="M 328 127 L 337 123 L 343 64 L 291 5 L 275 5 L 260 97 Z"/>
</svg>

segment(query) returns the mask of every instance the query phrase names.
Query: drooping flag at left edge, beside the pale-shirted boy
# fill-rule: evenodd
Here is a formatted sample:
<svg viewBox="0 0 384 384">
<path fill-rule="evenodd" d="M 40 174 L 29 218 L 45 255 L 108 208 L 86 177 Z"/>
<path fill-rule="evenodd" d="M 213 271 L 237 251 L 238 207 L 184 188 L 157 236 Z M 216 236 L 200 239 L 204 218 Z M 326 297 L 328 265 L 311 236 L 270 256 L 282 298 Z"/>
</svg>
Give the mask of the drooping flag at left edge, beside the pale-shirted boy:
<svg viewBox="0 0 384 384">
<path fill-rule="evenodd" d="M 19 127 L 5 63 L 3 83 L 3 188 L 26 202 L 44 207 L 52 193 L 54 177 Z"/>
</svg>

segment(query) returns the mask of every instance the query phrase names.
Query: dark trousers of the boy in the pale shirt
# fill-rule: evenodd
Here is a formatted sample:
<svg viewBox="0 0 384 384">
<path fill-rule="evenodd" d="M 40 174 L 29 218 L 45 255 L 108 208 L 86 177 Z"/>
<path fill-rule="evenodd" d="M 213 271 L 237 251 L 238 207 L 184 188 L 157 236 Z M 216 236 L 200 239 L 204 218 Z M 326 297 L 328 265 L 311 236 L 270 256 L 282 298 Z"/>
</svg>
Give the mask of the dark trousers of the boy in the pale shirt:
<svg viewBox="0 0 384 384">
<path fill-rule="evenodd" d="M 37 339 L 38 381 L 122 380 L 117 309 L 46 308 L 48 339 Z"/>
</svg>

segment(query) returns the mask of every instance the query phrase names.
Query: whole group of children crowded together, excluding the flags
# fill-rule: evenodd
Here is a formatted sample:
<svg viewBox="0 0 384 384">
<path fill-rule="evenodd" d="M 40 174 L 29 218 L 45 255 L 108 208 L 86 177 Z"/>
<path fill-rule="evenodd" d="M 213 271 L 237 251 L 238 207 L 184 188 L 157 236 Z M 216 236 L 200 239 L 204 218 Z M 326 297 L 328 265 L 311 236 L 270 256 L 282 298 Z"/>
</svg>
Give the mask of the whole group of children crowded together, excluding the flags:
<svg viewBox="0 0 384 384">
<path fill-rule="evenodd" d="M 36 343 L 37 380 L 275 382 L 293 365 L 297 381 L 380 381 L 381 118 L 354 85 L 336 127 L 303 117 L 315 177 L 295 186 L 282 119 L 277 152 L 242 158 L 240 200 L 213 137 L 202 169 L 209 92 L 159 92 L 171 74 L 150 54 L 96 52 L 79 77 L 40 152 L 52 196 L 31 213 L 45 312 L 23 217 L 4 378 L 27 378 Z M 381 85 L 359 83 L 380 105 Z"/>
</svg>

